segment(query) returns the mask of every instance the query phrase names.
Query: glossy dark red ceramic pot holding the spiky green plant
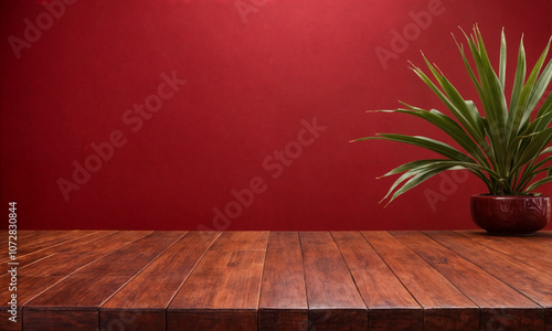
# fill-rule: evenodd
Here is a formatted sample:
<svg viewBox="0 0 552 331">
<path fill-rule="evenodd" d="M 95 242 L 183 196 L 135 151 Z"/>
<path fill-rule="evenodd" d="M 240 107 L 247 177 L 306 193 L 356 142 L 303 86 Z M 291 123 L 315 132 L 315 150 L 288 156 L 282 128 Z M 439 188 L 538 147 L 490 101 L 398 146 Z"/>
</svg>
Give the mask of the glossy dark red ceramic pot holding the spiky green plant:
<svg viewBox="0 0 552 331">
<path fill-rule="evenodd" d="M 550 197 L 545 195 L 477 194 L 471 196 L 470 204 L 471 218 L 490 234 L 528 235 L 550 222 Z"/>
</svg>

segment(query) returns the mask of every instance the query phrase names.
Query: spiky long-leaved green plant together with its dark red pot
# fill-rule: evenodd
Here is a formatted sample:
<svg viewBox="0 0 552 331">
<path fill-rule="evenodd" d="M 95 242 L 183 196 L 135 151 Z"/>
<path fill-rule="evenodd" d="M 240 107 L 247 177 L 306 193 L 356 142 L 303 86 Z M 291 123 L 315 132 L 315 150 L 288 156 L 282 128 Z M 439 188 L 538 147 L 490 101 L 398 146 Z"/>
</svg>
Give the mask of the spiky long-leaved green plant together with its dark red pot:
<svg viewBox="0 0 552 331">
<path fill-rule="evenodd" d="M 464 31 L 463 31 L 464 33 Z M 550 197 L 533 191 L 552 181 L 552 94 L 538 107 L 552 79 L 552 61 L 544 66 L 550 41 L 526 77 L 526 53 L 521 38 L 512 90 L 506 92 L 506 38 L 502 30 L 498 74 L 492 68 L 477 25 L 464 33 L 473 64 L 456 42 L 461 60 L 479 95 L 481 111 L 422 54 L 433 76 L 420 67 L 411 70 L 448 108 L 448 115 L 401 103 L 404 108 L 375 110 L 422 118 L 448 135 L 459 148 L 421 136 L 376 134 L 358 140 L 384 139 L 418 146 L 438 153 L 435 159 L 402 164 L 383 177 L 402 173 L 385 199 L 389 202 L 442 171 L 467 169 L 488 189 L 471 196 L 474 222 L 495 234 L 531 234 L 550 222 Z M 369 110 L 370 111 L 370 110 Z"/>
</svg>

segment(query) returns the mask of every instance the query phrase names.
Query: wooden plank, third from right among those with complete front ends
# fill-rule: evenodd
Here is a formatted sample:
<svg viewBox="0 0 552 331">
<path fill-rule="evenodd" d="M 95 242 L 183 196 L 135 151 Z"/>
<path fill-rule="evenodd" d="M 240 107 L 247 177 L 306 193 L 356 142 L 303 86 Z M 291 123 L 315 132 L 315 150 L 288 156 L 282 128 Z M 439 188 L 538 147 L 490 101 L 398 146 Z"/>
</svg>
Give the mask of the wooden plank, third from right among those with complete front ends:
<svg viewBox="0 0 552 331">
<path fill-rule="evenodd" d="M 369 330 L 423 330 L 422 307 L 359 232 L 331 232 L 368 307 Z"/>
</svg>

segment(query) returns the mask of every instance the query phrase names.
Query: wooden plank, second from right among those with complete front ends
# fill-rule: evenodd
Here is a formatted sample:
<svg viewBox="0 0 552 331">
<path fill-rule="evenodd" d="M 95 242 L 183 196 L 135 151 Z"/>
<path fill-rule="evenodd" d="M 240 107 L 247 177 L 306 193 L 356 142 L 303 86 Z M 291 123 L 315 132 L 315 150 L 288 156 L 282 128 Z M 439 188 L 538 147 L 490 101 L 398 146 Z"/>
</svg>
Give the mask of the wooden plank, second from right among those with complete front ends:
<svg viewBox="0 0 552 331">
<path fill-rule="evenodd" d="M 424 308 L 424 330 L 477 330 L 479 308 L 411 248 L 386 232 L 362 232 Z"/>
</svg>

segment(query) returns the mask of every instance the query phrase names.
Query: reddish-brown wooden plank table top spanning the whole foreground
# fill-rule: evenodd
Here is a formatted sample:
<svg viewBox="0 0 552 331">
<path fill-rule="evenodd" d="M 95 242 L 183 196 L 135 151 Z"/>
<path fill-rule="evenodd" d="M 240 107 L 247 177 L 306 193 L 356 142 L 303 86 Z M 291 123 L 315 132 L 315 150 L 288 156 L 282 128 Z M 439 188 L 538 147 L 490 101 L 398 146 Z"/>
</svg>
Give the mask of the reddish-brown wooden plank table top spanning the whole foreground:
<svg viewBox="0 0 552 331">
<path fill-rule="evenodd" d="M 552 331 L 550 231 L 20 231 L 17 241 L 15 279 L 0 276 L 0 330 Z M 0 242 L 9 269 L 6 231 Z"/>
</svg>

